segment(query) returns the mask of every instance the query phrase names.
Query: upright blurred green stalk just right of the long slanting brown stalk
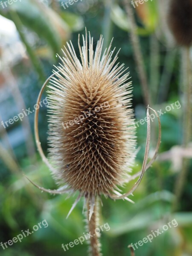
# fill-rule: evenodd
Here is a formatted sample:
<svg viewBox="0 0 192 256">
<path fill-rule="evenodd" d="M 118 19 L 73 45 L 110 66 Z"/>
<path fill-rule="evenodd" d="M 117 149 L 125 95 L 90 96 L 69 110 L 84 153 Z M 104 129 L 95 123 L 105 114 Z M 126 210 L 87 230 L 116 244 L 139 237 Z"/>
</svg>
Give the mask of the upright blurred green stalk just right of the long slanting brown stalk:
<svg viewBox="0 0 192 256">
<path fill-rule="evenodd" d="M 150 92 L 151 103 L 157 103 L 157 92 L 160 81 L 160 49 L 156 35 L 150 36 Z"/>
</svg>

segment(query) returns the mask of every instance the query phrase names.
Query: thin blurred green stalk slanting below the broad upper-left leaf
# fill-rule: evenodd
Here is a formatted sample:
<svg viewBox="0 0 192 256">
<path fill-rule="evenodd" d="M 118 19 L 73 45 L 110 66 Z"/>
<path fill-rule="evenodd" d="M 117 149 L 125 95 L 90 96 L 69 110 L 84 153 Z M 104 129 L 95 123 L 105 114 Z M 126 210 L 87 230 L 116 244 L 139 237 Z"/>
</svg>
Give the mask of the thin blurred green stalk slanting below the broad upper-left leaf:
<svg viewBox="0 0 192 256">
<path fill-rule="evenodd" d="M 13 22 L 15 23 L 17 31 L 18 31 L 18 33 L 20 35 L 20 39 L 23 42 L 23 44 L 25 45 L 25 47 L 26 47 L 26 51 L 27 51 L 27 53 L 29 55 L 29 58 L 30 58 L 30 60 L 32 62 L 32 65 L 33 65 L 34 69 L 36 70 L 36 72 L 39 75 L 39 79 L 41 80 L 41 82 L 44 82 L 46 80 L 46 76 L 45 76 L 44 70 L 42 68 L 41 61 L 38 59 L 38 57 L 36 56 L 36 54 L 33 51 L 32 47 L 29 45 L 29 43 L 27 42 L 27 40 L 25 38 L 25 34 L 22 31 L 23 25 L 22 25 L 22 22 L 21 22 L 19 16 L 12 9 L 9 10 L 9 13 L 10 13 L 10 15 L 12 17 Z"/>
</svg>

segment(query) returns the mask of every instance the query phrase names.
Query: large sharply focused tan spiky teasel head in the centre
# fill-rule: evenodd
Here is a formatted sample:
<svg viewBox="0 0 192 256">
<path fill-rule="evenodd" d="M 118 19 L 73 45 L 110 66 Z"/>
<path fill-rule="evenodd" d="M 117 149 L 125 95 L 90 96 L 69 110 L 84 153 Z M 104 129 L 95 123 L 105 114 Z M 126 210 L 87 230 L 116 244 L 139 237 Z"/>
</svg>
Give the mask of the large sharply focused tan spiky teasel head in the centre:
<svg viewBox="0 0 192 256">
<path fill-rule="evenodd" d="M 77 58 L 72 44 L 49 85 L 49 154 L 55 177 L 82 195 L 108 195 L 122 185 L 134 159 L 135 128 L 128 73 L 103 55 L 102 37 L 83 38 Z M 57 73 L 58 72 L 58 73 Z"/>
</svg>

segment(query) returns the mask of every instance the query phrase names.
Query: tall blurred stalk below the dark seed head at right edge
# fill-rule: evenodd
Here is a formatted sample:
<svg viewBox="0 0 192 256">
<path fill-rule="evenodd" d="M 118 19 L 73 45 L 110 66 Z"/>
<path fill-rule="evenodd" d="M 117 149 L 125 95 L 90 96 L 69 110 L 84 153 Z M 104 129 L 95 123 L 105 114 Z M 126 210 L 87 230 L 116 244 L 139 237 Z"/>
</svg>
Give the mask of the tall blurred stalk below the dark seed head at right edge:
<svg viewBox="0 0 192 256">
<path fill-rule="evenodd" d="M 183 49 L 183 60 L 186 68 L 183 69 L 184 78 L 184 108 L 183 108 L 183 148 L 186 148 L 191 141 L 192 134 L 192 69 L 190 60 L 190 47 Z M 183 66 L 184 67 L 184 66 Z M 177 210 L 178 203 L 183 193 L 186 183 L 186 177 L 190 166 L 190 160 L 183 158 L 183 168 L 179 173 L 175 183 L 175 201 L 173 203 L 173 211 Z"/>
</svg>

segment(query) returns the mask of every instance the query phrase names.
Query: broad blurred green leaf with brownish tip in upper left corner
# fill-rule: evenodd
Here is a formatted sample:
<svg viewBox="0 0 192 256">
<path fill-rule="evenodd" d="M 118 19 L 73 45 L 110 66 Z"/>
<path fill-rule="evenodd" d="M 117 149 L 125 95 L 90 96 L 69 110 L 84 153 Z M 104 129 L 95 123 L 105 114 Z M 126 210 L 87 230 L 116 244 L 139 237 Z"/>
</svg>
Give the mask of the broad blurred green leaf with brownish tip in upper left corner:
<svg viewBox="0 0 192 256">
<path fill-rule="evenodd" d="M 3 16 L 12 19 L 9 9 L 17 13 L 24 26 L 36 32 L 39 38 L 49 44 L 54 55 L 69 38 L 69 26 L 56 12 L 41 3 L 25 0 L 9 6 L 6 12 L 0 12 Z"/>
</svg>

